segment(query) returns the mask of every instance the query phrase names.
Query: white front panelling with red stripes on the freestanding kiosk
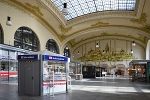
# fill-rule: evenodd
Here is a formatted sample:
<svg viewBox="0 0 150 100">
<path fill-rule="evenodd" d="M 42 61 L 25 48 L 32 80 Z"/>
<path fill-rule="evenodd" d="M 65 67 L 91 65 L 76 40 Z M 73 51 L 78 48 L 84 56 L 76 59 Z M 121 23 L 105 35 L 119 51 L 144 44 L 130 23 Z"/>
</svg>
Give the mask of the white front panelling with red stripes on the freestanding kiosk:
<svg viewBox="0 0 150 100">
<path fill-rule="evenodd" d="M 53 87 L 54 85 L 54 87 Z M 65 93 L 66 92 L 66 73 L 51 74 L 51 66 L 47 61 L 43 61 L 43 95 Z"/>
</svg>

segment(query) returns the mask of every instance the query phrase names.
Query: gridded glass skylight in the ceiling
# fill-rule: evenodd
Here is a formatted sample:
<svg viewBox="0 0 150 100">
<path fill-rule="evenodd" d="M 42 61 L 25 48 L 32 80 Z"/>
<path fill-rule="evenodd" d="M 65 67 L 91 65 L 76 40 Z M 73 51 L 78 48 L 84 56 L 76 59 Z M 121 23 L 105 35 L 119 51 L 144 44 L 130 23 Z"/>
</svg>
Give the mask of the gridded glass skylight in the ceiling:
<svg viewBox="0 0 150 100">
<path fill-rule="evenodd" d="M 136 0 L 51 0 L 61 11 L 63 3 L 67 3 L 68 15 L 64 15 L 67 20 L 102 11 L 133 11 Z"/>
</svg>

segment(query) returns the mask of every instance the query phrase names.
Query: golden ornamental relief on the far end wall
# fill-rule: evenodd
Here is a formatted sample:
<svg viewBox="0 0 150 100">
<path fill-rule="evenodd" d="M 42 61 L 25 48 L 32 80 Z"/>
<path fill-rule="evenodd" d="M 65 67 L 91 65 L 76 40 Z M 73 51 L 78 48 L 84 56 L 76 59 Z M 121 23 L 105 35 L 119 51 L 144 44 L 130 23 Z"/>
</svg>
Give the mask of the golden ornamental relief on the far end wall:
<svg viewBox="0 0 150 100">
<path fill-rule="evenodd" d="M 96 50 L 90 50 L 87 54 L 84 54 L 82 57 L 78 58 L 78 60 L 82 62 L 117 62 L 130 59 L 138 58 L 133 56 L 132 53 L 126 53 L 124 50 L 110 52 L 108 48 L 105 48 L 103 51 L 101 51 L 100 48 L 96 48 Z"/>
</svg>

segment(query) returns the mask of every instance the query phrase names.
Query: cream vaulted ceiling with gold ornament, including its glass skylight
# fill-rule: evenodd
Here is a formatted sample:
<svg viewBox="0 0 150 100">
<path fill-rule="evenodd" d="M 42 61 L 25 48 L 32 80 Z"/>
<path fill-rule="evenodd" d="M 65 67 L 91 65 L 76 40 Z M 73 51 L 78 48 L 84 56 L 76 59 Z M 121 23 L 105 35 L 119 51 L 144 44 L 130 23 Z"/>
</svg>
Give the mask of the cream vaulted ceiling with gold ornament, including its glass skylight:
<svg viewBox="0 0 150 100">
<path fill-rule="evenodd" d="M 74 47 L 93 39 L 111 37 L 134 40 L 146 46 L 150 38 L 150 0 L 1 1 L 34 14 L 52 30 L 62 45 Z M 64 2 L 68 3 L 68 15 L 61 13 Z"/>
</svg>

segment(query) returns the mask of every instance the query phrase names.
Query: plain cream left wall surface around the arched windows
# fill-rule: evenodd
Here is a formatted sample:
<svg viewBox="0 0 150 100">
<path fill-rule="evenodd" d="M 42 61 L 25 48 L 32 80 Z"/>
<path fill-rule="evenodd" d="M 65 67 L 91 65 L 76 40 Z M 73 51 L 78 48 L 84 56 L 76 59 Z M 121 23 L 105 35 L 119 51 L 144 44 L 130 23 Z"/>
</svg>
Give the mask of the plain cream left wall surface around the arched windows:
<svg viewBox="0 0 150 100">
<path fill-rule="evenodd" d="M 50 29 L 47 29 L 33 14 L 23 9 L 0 2 L 0 15 L 0 24 L 4 32 L 4 44 L 14 45 L 15 31 L 22 26 L 29 27 L 36 33 L 40 41 L 40 50 L 45 50 L 46 42 L 49 39 L 54 39 L 57 42 Z M 7 16 L 11 17 L 12 26 L 6 25 Z"/>
</svg>

